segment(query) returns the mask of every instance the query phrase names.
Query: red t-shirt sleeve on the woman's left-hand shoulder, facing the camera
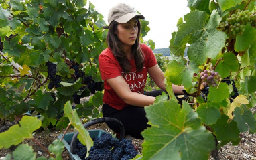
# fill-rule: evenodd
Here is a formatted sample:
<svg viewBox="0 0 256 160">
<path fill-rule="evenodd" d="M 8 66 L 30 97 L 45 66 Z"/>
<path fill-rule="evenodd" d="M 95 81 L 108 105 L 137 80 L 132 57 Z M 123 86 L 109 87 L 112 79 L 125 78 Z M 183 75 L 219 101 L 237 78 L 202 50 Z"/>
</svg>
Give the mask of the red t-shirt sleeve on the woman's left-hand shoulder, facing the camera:
<svg viewBox="0 0 256 160">
<path fill-rule="evenodd" d="M 99 55 L 99 67 L 103 80 L 121 76 L 119 64 L 113 56 L 109 56 L 106 53 Z"/>
</svg>

